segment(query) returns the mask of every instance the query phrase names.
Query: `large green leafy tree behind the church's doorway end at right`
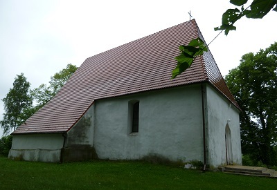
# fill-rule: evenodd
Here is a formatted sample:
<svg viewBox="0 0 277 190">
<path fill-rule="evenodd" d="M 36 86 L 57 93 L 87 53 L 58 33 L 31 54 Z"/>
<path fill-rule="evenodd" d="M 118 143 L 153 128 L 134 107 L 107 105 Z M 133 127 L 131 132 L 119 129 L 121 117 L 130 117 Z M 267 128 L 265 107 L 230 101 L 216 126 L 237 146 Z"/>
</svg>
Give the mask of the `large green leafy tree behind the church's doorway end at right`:
<svg viewBox="0 0 277 190">
<path fill-rule="evenodd" d="M 242 153 L 267 165 L 277 164 L 277 43 L 242 56 L 240 66 L 226 76 L 242 108 Z"/>
</svg>

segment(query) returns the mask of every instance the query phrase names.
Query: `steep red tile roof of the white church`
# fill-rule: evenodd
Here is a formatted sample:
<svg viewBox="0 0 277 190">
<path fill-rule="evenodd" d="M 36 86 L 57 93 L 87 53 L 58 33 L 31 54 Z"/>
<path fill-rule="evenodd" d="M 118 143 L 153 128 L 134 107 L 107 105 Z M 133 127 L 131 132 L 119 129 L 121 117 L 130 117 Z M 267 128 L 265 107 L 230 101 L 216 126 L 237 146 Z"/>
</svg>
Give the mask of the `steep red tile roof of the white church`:
<svg viewBox="0 0 277 190">
<path fill-rule="evenodd" d="M 197 37 L 202 34 L 192 20 L 87 58 L 60 92 L 12 134 L 64 133 L 95 99 L 199 82 L 210 82 L 239 108 L 210 52 L 170 79 L 179 46 Z"/>
</svg>

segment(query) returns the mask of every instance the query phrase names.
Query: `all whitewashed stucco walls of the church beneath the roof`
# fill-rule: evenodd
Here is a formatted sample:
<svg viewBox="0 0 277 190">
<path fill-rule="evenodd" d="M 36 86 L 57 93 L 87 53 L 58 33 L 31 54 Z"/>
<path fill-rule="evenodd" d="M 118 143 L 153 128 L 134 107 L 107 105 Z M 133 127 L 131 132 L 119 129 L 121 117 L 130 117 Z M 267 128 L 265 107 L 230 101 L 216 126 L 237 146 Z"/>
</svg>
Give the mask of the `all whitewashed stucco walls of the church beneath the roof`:
<svg viewBox="0 0 277 190">
<path fill-rule="evenodd" d="M 231 131 L 233 163 L 242 164 L 238 109 L 209 84 L 204 84 L 204 91 L 208 164 L 226 164 L 226 124 Z M 132 100 L 139 100 L 139 133 L 130 133 L 128 128 Z M 9 157 L 60 162 L 63 145 L 62 134 L 14 135 Z M 98 99 L 67 133 L 64 148 L 69 151 L 64 156 L 75 154 L 75 149 L 89 149 L 85 155 L 80 152 L 86 159 L 92 158 L 93 149 L 100 159 L 158 155 L 172 161 L 204 162 L 201 85 Z"/>
</svg>

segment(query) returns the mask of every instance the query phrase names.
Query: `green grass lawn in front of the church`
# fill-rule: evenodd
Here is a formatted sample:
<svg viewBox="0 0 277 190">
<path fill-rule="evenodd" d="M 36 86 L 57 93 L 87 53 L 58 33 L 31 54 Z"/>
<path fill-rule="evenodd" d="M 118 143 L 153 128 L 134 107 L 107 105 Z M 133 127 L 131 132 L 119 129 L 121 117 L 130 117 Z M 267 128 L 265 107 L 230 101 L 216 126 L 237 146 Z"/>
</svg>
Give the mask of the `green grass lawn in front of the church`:
<svg viewBox="0 0 277 190">
<path fill-rule="evenodd" d="M 0 189 L 277 189 L 277 179 L 146 162 L 51 164 L 0 157 Z"/>
</svg>

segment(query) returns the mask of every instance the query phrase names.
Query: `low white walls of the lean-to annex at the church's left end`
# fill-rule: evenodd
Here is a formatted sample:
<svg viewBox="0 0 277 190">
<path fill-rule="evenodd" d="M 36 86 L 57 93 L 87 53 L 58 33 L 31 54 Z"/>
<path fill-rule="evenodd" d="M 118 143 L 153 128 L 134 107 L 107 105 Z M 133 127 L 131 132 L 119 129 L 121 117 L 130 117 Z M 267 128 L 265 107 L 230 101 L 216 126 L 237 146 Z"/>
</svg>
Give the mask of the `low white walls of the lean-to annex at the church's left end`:
<svg viewBox="0 0 277 190">
<path fill-rule="evenodd" d="M 92 159 L 94 116 L 94 105 L 91 105 L 64 136 L 62 133 L 14 135 L 9 158 L 41 162 Z M 66 137 L 65 141 L 64 137 Z"/>
</svg>

